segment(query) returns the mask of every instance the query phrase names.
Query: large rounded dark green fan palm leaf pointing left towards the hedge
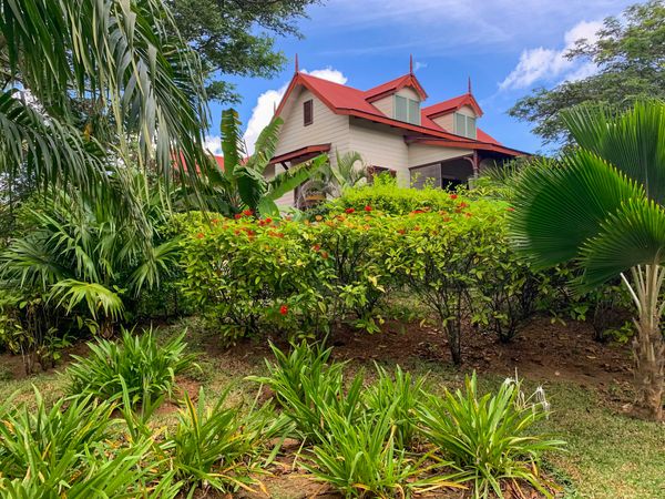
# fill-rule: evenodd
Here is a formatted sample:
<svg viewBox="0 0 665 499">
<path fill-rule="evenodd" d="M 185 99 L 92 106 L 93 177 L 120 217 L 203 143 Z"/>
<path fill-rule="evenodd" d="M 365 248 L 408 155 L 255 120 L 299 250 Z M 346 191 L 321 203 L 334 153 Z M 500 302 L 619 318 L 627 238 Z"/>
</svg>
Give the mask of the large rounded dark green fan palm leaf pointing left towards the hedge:
<svg viewBox="0 0 665 499">
<path fill-rule="evenodd" d="M 511 231 L 518 248 L 546 267 L 576 258 L 607 215 L 644 191 L 613 165 L 587 151 L 561 167 L 528 169 L 521 175 Z"/>
</svg>

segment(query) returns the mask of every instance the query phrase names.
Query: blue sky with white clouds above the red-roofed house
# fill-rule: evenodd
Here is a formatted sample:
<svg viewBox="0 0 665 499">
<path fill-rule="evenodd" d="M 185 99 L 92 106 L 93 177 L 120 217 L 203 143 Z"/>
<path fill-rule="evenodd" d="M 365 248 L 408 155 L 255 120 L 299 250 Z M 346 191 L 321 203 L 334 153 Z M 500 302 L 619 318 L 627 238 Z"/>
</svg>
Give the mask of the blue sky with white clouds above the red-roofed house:
<svg viewBox="0 0 665 499">
<path fill-rule="evenodd" d="M 634 1 L 620 0 L 328 0 L 309 9 L 299 22 L 304 39 L 277 40 L 290 63 L 275 79 L 233 78 L 243 102 L 237 106 L 249 125 L 252 149 L 257 131 L 269 120 L 294 73 L 300 68 L 359 89 L 369 89 L 405 74 L 413 54 L 417 77 L 428 104 L 466 92 L 484 111 L 479 126 L 504 144 L 542 151 L 529 125 L 508 109 L 536 86 L 550 88 L 594 71 L 590 63 L 571 63 L 563 53 L 577 38 L 592 38 L 606 16 L 618 14 Z M 212 106 L 208 146 L 218 152 L 222 108 Z"/>
</svg>

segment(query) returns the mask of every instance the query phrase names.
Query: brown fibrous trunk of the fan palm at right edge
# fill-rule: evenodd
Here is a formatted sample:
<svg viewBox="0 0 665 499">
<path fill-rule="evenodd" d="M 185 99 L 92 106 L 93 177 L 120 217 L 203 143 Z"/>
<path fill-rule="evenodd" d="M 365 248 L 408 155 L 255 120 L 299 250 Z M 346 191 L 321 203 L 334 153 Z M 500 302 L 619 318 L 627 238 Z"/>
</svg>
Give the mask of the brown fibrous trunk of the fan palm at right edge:
<svg viewBox="0 0 665 499">
<path fill-rule="evenodd" d="M 661 420 L 665 384 L 665 339 L 661 332 L 661 317 L 665 303 L 659 303 L 659 295 L 665 267 L 658 264 L 637 266 L 631 273 L 633 285 L 622 277 L 628 285 L 638 312 L 637 319 L 634 319 L 637 336 L 633 339 L 637 404 L 649 418 Z"/>
</svg>

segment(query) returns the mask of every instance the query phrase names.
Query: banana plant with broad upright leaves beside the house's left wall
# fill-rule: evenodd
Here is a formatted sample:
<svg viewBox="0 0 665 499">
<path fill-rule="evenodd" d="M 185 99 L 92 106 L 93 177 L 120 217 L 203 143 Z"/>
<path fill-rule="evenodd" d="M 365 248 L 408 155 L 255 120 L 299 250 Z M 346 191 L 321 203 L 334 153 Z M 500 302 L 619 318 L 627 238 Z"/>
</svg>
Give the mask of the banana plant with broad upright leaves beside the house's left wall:
<svg viewBox="0 0 665 499">
<path fill-rule="evenodd" d="M 222 151 L 224 171 L 216 164 L 204 165 L 211 192 L 208 207 L 227 216 L 252 210 L 269 215 L 279 212 L 276 201 L 307 181 L 327 163 L 321 154 L 314 160 L 293 166 L 266 179 L 265 172 L 275 155 L 282 119 L 274 119 L 256 140 L 254 154 L 247 156 L 241 133 L 241 121 L 235 110 L 222 112 Z"/>
</svg>

